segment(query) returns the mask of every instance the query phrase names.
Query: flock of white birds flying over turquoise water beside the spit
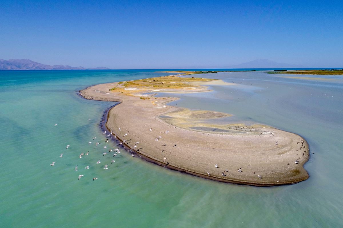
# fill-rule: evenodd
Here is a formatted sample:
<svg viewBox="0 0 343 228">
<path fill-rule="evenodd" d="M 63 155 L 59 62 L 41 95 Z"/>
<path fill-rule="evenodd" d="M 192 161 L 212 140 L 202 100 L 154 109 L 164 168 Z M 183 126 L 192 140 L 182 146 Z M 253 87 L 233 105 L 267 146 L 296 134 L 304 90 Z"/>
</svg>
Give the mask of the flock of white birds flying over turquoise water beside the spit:
<svg viewBox="0 0 343 228">
<path fill-rule="evenodd" d="M 87 121 L 90 121 L 91 119 L 89 119 L 89 120 L 87 120 Z M 58 124 L 57 123 L 55 123 L 55 125 L 54 126 L 57 126 Z M 119 128 L 119 131 L 120 131 L 120 128 Z M 107 134 L 107 131 L 105 131 L 104 133 L 103 133 L 104 135 L 106 135 L 107 136 L 107 138 L 109 138 L 109 137 L 111 137 L 111 134 L 112 134 L 112 132 L 110 132 L 110 134 Z M 127 134 L 126 134 L 127 135 Z M 117 137 L 117 135 L 115 135 L 114 137 Z M 112 138 L 112 137 L 111 137 Z M 94 139 L 96 139 L 96 137 L 93 137 L 93 140 Z M 108 139 L 105 139 L 105 143 L 107 143 L 108 142 Z M 92 142 L 88 142 L 88 145 L 91 145 L 91 143 Z M 138 144 L 139 142 L 136 142 L 136 144 L 135 144 L 135 147 L 137 147 L 137 144 Z M 98 146 L 100 143 L 99 142 L 96 142 L 95 143 L 95 146 Z M 119 143 L 119 145 L 120 144 L 122 144 L 122 143 Z M 66 149 L 68 149 L 70 147 L 70 145 L 67 145 L 67 147 L 66 147 Z M 112 150 L 112 149 L 109 149 L 108 150 L 108 152 L 107 152 L 107 146 L 105 145 L 104 146 L 104 152 L 103 152 L 103 156 L 105 156 L 105 155 L 107 155 L 107 153 L 109 153 L 109 152 L 111 152 L 111 151 L 113 151 L 114 152 L 114 154 L 113 154 L 113 158 L 115 157 L 115 156 L 117 156 L 119 153 L 120 153 L 120 151 L 119 151 L 119 149 L 118 148 L 116 148 L 116 149 L 114 149 L 114 150 Z M 60 158 L 63 158 L 63 154 L 64 153 L 61 153 L 60 154 Z M 81 153 L 80 155 L 79 155 L 79 157 L 78 158 L 82 158 L 83 156 L 85 156 L 85 155 L 89 155 L 89 151 L 87 151 L 86 153 Z M 115 162 L 115 160 L 114 159 L 112 159 L 111 160 L 111 164 L 113 164 L 113 162 Z M 50 165 L 51 166 L 55 166 L 55 163 L 56 163 L 56 161 L 54 161 L 54 162 L 52 162 Z M 100 159 L 96 162 L 96 164 L 100 164 L 101 162 L 100 162 Z M 108 166 L 109 166 L 109 164 L 106 164 L 105 166 L 104 166 L 104 169 L 105 170 L 107 170 L 108 169 Z M 78 171 L 78 165 L 76 165 L 75 166 L 75 169 L 74 169 L 74 171 Z M 87 165 L 86 167 L 85 167 L 85 169 L 89 169 L 90 168 L 90 166 L 89 165 Z M 79 175 L 79 177 L 78 177 L 78 179 L 80 180 L 81 179 L 81 177 L 83 177 L 84 175 Z M 96 180 L 96 179 L 98 179 L 97 177 L 93 177 L 93 181 L 94 180 Z"/>
</svg>

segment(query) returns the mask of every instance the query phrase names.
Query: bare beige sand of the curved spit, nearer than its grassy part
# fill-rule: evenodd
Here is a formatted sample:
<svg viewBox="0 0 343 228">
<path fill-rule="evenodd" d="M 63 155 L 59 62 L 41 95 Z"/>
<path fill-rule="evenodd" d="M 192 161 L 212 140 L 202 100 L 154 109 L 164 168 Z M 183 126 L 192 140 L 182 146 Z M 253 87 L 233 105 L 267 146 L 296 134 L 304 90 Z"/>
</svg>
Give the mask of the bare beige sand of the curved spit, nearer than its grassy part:
<svg viewBox="0 0 343 228">
<path fill-rule="evenodd" d="M 236 184 L 294 184 L 309 177 L 303 168 L 309 159 L 308 144 L 297 134 L 262 125 L 204 124 L 199 120 L 230 115 L 168 106 L 166 103 L 178 99 L 175 97 L 141 99 L 139 95 L 111 92 L 115 85 L 91 86 L 80 91 L 80 95 L 92 100 L 121 102 L 110 109 L 106 126 L 119 140 L 127 140 L 125 146 L 131 148 L 136 157 L 169 169 Z M 204 131 L 206 128 L 195 131 L 191 129 L 194 126 L 229 131 Z M 133 148 L 136 142 L 139 144 Z M 298 158 L 300 163 L 296 164 Z M 242 172 L 237 170 L 240 167 Z M 223 176 L 225 169 L 228 172 Z"/>
</svg>

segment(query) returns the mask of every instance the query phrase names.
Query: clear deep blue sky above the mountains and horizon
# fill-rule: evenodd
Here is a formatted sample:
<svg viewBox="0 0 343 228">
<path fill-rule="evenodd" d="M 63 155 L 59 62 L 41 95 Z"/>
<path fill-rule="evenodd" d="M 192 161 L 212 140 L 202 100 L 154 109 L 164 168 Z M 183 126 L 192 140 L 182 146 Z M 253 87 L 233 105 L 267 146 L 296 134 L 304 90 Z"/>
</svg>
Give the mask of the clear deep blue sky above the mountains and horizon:
<svg viewBox="0 0 343 228">
<path fill-rule="evenodd" d="M 343 66 L 343 1 L 0 1 L 0 58 L 113 69 Z"/>
</svg>

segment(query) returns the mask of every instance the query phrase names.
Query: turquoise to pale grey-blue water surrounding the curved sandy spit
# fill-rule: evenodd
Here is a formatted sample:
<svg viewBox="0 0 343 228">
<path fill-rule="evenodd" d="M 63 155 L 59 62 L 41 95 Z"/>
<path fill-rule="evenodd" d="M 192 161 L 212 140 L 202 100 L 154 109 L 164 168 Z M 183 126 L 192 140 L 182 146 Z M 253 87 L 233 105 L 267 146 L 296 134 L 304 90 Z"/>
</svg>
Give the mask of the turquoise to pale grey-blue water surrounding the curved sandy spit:
<svg viewBox="0 0 343 228">
<path fill-rule="evenodd" d="M 102 155 L 105 144 L 107 150 L 116 148 L 104 142 L 99 127 L 113 103 L 82 99 L 76 91 L 162 75 L 149 70 L 0 71 L 0 227 L 342 226 L 342 76 L 316 81 L 223 72 L 204 76 L 236 85 L 177 95 L 181 99 L 173 104 L 178 106 L 224 111 L 306 138 L 315 152 L 305 165 L 308 180 L 251 187 L 170 171 L 124 151 L 114 164 L 110 154 Z M 90 155 L 78 158 L 87 151 Z M 56 165 L 50 166 L 53 161 Z"/>
</svg>

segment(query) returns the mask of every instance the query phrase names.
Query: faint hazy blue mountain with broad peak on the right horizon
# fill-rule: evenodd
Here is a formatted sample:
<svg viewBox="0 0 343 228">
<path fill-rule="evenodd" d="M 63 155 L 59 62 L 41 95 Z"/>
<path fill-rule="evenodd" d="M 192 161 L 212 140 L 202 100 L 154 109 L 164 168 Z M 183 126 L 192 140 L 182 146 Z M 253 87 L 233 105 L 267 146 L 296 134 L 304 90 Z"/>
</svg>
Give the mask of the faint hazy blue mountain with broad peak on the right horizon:
<svg viewBox="0 0 343 228">
<path fill-rule="evenodd" d="M 277 63 L 269 59 L 256 59 L 247 63 L 232 65 L 228 68 L 302 68 L 304 66 L 297 64 Z"/>
</svg>

